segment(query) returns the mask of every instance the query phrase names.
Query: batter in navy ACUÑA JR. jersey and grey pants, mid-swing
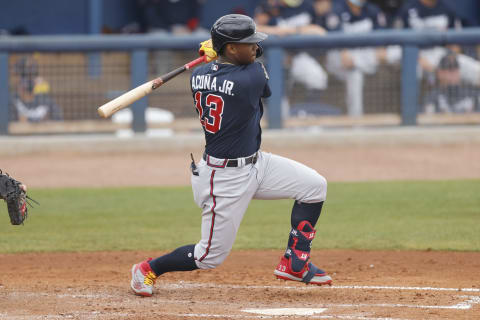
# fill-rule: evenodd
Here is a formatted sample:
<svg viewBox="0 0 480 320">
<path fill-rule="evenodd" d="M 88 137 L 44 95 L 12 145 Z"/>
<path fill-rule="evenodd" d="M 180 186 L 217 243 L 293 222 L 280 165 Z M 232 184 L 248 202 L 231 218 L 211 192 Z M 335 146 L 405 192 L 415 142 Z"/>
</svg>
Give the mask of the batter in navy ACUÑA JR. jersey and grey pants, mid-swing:
<svg viewBox="0 0 480 320">
<path fill-rule="evenodd" d="M 219 18 L 211 41 L 200 51 L 209 59 L 191 76 L 194 105 L 205 133 L 205 153 L 192 160 L 191 183 L 202 209 L 202 236 L 197 244 L 148 259 L 132 267 L 131 287 L 151 296 L 155 279 L 170 271 L 212 269 L 230 253 L 240 222 L 252 199 L 294 199 L 287 249 L 274 274 L 310 284 L 332 279 L 310 261 L 315 224 L 327 193 L 327 182 L 315 170 L 260 150 L 262 98 L 270 96 L 268 74 L 255 59 L 267 35 L 239 14 Z M 213 49 L 212 49 L 213 45 Z M 216 52 L 216 53 L 215 53 Z"/>
</svg>

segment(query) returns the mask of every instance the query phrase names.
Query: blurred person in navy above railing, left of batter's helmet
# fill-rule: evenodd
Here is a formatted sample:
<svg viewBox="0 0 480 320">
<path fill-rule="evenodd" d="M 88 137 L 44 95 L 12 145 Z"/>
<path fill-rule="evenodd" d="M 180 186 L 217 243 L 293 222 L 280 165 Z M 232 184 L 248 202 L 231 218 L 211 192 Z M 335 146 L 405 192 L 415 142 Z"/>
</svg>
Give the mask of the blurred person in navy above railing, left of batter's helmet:
<svg viewBox="0 0 480 320">
<path fill-rule="evenodd" d="M 148 33 L 199 31 L 202 0 L 137 0 L 140 26 Z"/>
</svg>

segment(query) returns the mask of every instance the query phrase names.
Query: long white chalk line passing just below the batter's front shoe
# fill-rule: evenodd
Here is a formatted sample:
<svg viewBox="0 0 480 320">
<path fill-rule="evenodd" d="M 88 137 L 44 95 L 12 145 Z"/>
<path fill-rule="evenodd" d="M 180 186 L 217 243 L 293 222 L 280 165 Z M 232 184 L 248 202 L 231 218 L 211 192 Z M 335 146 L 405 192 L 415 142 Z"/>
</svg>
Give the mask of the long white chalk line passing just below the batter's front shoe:
<svg viewBox="0 0 480 320">
<path fill-rule="evenodd" d="M 452 292 L 480 292 L 478 288 L 436 288 L 436 287 L 394 287 L 394 286 L 250 286 L 250 285 L 228 285 L 214 283 L 195 283 L 183 282 L 162 283 L 159 287 L 164 289 L 195 289 L 195 288 L 215 288 L 215 289 L 280 289 L 280 290 L 405 290 L 405 291 L 452 291 Z"/>
</svg>

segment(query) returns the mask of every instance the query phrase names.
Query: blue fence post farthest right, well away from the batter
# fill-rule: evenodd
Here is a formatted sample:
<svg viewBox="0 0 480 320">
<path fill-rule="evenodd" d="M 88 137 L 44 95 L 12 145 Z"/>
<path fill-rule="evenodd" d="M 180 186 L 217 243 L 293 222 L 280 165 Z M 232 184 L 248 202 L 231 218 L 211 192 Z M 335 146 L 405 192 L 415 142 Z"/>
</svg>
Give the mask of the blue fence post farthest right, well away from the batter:
<svg viewBox="0 0 480 320">
<path fill-rule="evenodd" d="M 417 124 L 418 112 L 418 64 L 419 49 L 416 46 L 403 46 L 402 53 L 402 125 Z"/>
</svg>

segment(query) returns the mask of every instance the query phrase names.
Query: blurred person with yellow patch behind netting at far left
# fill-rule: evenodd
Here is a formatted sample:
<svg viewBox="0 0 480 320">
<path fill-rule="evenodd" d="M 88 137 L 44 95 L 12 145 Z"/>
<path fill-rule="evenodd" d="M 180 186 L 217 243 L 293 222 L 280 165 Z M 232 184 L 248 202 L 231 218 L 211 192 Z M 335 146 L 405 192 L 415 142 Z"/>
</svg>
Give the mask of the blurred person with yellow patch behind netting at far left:
<svg viewBox="0 0 480 320">
<path fill-rule="evenodd" d="M 35 58 L 32 56 L 20 58 L 14 70 L 15 92 L 10 99 L 13 104 L 13 120 L 22 122 L 62 120 L 62 110 L 50 97 L 50 85 L 40 76 Z"/>
</svg>

